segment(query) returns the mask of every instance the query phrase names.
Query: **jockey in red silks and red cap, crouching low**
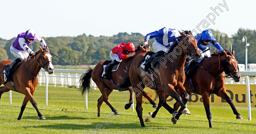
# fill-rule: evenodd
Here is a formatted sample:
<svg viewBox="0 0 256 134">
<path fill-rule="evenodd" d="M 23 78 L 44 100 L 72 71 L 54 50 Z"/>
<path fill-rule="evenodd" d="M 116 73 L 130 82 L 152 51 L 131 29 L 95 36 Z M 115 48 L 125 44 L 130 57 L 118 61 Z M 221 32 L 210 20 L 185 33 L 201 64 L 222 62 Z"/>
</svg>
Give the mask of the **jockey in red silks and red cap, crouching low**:
<svg viewBox="0 0 256 134">
<path fill-rule="evenodd" d="M 110 52 L 110 58 L 113 60 L 107 66 L 105 66 L 105 72 L 108 71 L 110 67 L 113 67 L 117 63 L 121 62 L 123 59 L 127 59 L 135 55 L 135 46 L 133 43 L 121 43 L 114 47 Z"/>
</svg>

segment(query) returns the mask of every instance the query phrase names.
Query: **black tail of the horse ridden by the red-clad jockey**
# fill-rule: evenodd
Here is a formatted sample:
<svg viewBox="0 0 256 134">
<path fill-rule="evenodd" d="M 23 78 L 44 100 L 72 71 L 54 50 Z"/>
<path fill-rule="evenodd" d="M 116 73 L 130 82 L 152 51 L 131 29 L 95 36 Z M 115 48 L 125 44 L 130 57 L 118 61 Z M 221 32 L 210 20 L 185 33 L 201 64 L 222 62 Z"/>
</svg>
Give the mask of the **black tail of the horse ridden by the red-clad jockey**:
<svg viewBox="0 0 256 134">
<path fill-rule="evenodd" d="M 88 67 L 88 70 L 86 73 L 84 73 L 79 80 L 80 83 L 80 88 L 79 91 L 84 95 L 85 91 L 90 91 L 91 89 L 91 73 L 92 73 L 92 68 Z"/>
</svg>

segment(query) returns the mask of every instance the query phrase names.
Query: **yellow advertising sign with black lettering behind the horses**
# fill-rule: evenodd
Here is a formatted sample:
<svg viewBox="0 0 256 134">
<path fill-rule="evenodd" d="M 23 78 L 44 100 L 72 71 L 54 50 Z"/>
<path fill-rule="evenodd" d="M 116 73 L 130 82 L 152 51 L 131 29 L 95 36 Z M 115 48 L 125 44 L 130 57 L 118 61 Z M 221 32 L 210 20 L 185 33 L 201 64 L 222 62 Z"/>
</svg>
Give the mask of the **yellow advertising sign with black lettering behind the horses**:
<svg viewBox="0 0 256 134">
<path fill-rule="evenodd" d="M 227 95 L 232 99 L 234 106 L 247 106 L 247 92 L 246 92 L 246 85 L 245 84 L 226 84 L 225 85 Z M 251 97 L 251 106 L 256 107 L 256 87 L 255 85 L 250 85 L 250 96 Z M 156 96 L 156 92 L 152 89 L 146 87 L 144 89 L 145 92 L 148 93 L 149 97 L 153 99 L 157 104 L 159 102 L 158 96 Z M 211 94 L 209 97 L 210 105 L 214 106 L 229 106 L 229 104 L 215 94 Z M 134 98 L 134 102 L 136 100 Z M 173 105 L 176 100 L 172 97 L 168 97 L 166 99 L 167 104 Z M 143 97 L 142 98 L 143 104 L 150 104 L 149 101 Z M 203 100 L 201 95 L 192 94 L 187 102 L 187 105 L 203 105 Z"/>
</svg>

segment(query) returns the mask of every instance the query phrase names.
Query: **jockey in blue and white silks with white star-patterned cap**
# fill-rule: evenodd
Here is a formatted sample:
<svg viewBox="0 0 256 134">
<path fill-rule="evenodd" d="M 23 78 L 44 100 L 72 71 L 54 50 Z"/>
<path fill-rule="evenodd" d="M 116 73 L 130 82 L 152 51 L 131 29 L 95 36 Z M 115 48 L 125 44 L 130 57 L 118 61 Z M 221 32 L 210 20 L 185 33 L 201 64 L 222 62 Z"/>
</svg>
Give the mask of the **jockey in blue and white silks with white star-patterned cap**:
<svg viewBox="0 0 256 134">
<path fill-rule="evenodd" d="M 167 27 L 164 27 L 155 32 L 148 33 L 144 38 L 145 42 L 143 43 L 143 45 L 148 45 L 148 40 L 155 38 L 155 41 L 152 44 L 155 54 L 151 55 L 150 58 L 146 59 L 145 63 L 147 64 L 155 57 L 161 56 L 164 53 L 168 53 L 170 50 L 170 46 L 173 45 L 174 39 L 179 36 L 181 35 L 178 30 Z"/>
</svg>

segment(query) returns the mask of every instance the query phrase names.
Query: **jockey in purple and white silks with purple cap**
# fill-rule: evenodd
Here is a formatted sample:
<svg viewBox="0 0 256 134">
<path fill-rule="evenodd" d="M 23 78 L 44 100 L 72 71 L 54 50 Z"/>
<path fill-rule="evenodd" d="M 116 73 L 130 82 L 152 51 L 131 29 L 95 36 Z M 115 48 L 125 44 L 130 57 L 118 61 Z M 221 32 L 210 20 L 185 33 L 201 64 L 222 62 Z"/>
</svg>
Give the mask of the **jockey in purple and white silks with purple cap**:
<svg viewBox="0 0 256 134">
<path fill-rule="evenodd" d="M 43 48 L 46 47 L 46 43 L 43 38 L 36 36 L 34 30 L 30 29 L 27 30 L 25 33 L 18 34 L 17 38 L 14 40 L 10 47 L 10 51 L 12 55 L 14 55 L 16 58 L 11 64 L 10 69 L 20 63 L 22 60 L 27 59 L 29 54 L 35 55 L 36 52 L 34 52 L 32 49 L 30 49 L 28 46 L 30 46 L 33 41 L 40 42 L 40 44 L 43 46 Z"/>
</svg>

